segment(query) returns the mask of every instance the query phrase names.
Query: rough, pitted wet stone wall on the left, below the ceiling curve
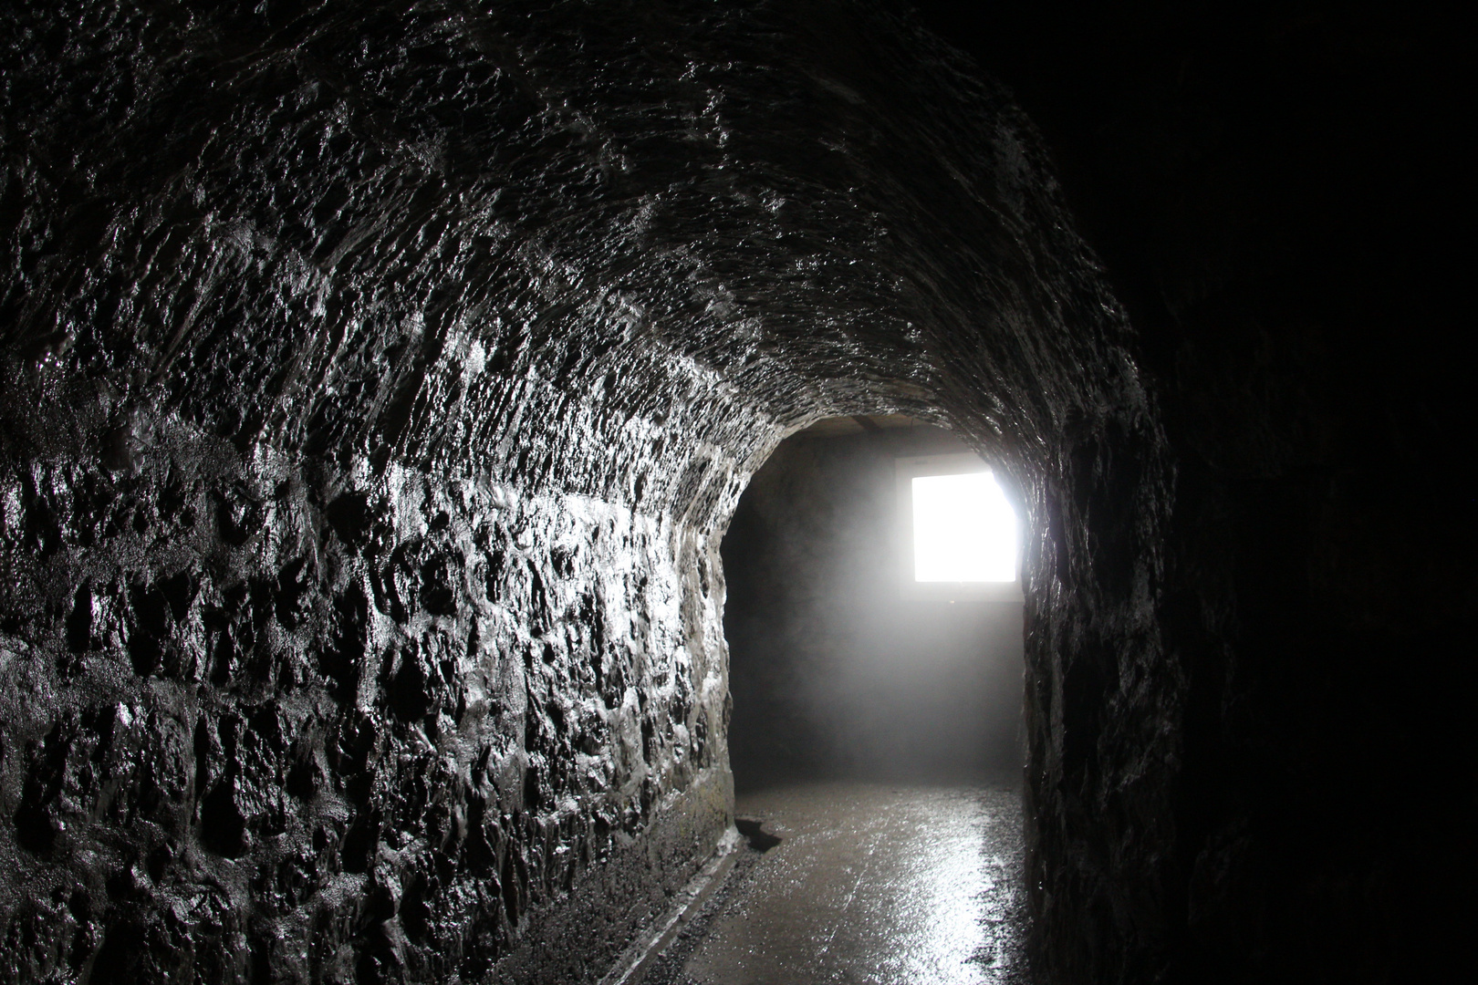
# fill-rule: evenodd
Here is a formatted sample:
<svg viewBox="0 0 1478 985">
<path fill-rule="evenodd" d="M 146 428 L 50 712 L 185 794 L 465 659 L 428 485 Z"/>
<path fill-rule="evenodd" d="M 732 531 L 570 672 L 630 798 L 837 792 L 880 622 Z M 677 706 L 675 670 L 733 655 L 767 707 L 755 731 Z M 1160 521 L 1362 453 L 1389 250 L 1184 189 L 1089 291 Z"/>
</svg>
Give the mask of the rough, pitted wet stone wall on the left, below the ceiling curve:
<svg viewBox="0 0 1478 985">
<path fill-rule="evenodd" d="M 146 458 L 6 477 L 35 614 L 0 638 L 0 972 L 603 972 L 727 824 L 706 539 L 395 464 L 306 487 L 213 437 Z M 559 939 L 572 895 L 622 899 L 605 950 Z"/>
</svg>

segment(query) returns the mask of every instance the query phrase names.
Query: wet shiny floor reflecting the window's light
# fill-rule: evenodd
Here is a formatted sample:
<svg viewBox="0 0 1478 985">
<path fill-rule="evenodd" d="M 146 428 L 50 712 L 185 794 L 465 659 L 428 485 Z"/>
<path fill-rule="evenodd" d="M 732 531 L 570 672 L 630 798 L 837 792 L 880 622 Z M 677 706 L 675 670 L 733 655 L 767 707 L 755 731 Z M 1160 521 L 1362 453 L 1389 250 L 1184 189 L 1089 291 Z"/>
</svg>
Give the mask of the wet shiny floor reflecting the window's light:
<svg viewBox="0 0 1478 985">
<path fill-rule="evenodd" d="M 811 783 L 742 794 L 749 848 L 647 985 L 1026 982 L 1021 797 Z"/>
</svg>

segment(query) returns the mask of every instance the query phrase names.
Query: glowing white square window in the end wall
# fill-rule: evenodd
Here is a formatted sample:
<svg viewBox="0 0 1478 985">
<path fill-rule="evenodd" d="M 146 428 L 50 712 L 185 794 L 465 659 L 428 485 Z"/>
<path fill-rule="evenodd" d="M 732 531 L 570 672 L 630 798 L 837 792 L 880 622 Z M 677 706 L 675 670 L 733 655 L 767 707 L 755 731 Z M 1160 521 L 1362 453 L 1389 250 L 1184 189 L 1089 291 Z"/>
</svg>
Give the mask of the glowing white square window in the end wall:
<svg viewBox="0 0 1478 985">
<path fill-rule="evenodd" d="M 990 473 L 913 478 L 913 580 L 1014 582 L 1017 520 Z"/>
</svg>

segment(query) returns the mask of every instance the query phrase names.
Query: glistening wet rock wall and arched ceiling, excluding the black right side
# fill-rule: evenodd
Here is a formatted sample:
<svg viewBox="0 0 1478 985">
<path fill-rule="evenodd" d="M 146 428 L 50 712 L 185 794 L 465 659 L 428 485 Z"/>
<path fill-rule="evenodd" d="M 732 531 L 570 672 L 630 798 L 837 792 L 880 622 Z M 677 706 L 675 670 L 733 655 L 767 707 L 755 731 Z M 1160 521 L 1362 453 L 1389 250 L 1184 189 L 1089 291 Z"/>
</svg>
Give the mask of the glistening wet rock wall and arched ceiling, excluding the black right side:
<svg viewBox="0 0 1478 985">
<path fill-rule="evenodd" d="M 1048 938 L 1169 905 L 1165 443 L 962 58 L 866 3 L 0 38 L 0 979 L 599 979 L 730 820 L 718 538 L 837 413 L 1026 507 Z"/>
</svg>

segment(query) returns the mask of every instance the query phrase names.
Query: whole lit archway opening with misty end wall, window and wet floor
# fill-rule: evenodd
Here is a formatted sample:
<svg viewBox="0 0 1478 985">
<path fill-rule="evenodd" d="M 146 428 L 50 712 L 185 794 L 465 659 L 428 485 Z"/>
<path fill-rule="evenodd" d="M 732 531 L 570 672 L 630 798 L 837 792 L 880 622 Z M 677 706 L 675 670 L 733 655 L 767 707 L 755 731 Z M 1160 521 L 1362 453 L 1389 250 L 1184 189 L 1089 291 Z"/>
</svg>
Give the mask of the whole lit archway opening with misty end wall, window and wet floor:
<svg viewBox="0 0 1478 985">
<path fill-rule="evenodd" d="M 723 542 L 739 830 L 653 985 L 1026 981 L 1018 529 L 900 415 L 783 442 Z"/>
</svg>

